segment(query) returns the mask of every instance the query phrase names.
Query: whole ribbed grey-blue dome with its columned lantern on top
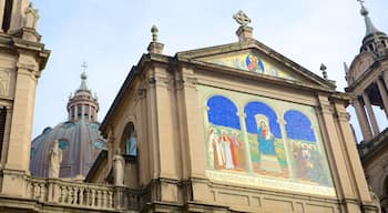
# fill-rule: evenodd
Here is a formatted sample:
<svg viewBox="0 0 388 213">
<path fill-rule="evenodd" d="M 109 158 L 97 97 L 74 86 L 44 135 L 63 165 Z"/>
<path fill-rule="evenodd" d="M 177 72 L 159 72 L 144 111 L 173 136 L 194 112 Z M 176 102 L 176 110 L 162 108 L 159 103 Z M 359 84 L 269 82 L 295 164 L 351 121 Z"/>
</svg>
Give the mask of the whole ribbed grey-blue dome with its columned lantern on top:
<svg viewBox="0 0 388 213">
<path fill-rule="evenodd" d="M 67 105 L 68 121 L 45 128 L 31 143 L 30 171 L 33 176 L 49 175 L 50 150 L 54 141 L 62 150 L 60 178 L 83 179 L 101 150 L 106 149 L 96 121 L 99 103 L 86 87 L 86 74 L 81 74 L 81 85 L 70 95 Z"/>
</svg>

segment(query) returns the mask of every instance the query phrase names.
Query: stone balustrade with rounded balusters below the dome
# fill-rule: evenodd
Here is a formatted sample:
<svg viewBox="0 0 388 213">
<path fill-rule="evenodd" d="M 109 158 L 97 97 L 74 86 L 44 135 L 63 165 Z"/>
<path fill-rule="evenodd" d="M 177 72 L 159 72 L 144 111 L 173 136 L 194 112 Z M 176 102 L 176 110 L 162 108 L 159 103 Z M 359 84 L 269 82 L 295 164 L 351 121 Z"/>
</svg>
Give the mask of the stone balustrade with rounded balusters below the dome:
<svg viewBox="0 0 388 213">
<path fill-rule="evenodd" d="M 125 187 L 70 182 L 60 179 L 37 179 L 27 181 L 27 197 L 47 204 L 82 207 L 100 211 L 135 209 L 123 199 Z M 131 197 L 130 200 L 137 200 Z"/>
</svg>

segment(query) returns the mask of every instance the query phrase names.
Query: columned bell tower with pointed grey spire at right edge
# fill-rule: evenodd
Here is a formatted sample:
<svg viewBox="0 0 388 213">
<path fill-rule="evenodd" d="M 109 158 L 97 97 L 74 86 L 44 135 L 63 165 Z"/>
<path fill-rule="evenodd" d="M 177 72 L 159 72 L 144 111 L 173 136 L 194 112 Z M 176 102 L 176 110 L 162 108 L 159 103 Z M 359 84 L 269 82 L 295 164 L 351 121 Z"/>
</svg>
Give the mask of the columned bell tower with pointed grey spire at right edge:
<svg viewBox="0 0 388 213">
<path fill-rule="evenodd" d="M 364 142 L 367 143 L 380 134 L 372 106 L 382 109 L 388 118 L 388 37 L 379 31 L 369 18 L 369 11 L 361 3 L 366 34 L 360 53 L 353 60 L 349 69 L 345 67 L 348 88 L 353 95 Z"/>
</svg>

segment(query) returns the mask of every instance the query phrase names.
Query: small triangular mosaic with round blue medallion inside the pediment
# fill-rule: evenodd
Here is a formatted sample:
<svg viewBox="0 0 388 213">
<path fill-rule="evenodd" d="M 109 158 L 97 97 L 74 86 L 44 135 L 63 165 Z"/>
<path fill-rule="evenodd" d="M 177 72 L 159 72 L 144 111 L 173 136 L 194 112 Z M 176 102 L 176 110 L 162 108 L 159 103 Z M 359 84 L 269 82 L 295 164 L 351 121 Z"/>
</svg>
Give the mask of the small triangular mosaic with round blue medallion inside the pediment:
<svg viewBox="0 0 388 213">
<path fill-rule="evenodd" d="M 231 55 L 216 55 L 203 59 L 206 62 L 216 63 L 219 65 L 226 65 L 231 68 L 236 68 L 241 70 L 268 74 L 272 77 L 297 80 L 295 74 L 286 72 L 279 69 L 277 65 L 265 60 L 261 54 L 251 51 L 251 52 L 238 52 Z"/>
</svg>

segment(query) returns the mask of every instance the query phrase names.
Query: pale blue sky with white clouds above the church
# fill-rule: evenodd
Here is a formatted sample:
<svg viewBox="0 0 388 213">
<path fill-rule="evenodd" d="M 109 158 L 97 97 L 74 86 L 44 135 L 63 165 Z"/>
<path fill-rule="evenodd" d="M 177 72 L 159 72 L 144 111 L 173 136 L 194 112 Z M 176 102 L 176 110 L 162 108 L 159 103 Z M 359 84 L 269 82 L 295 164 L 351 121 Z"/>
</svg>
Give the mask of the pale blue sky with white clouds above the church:
<svg viewBox="0 0 388 213">
<path fill-rule="evenodd" d="M 236 42 L 233 14 L 243 10 L 252 20 L 254 38 L 316 74 L 327 67 L 328 78 L 344 91 L 344 62 L 350 64 L 365 36 L 356 0 L 33 0 L 39 9 L 38 32 L 51 50 L 39 79 L 32 136 L 67 121 L 70 93 L 88 63 L 88 85 L 99 97 L 101 122 L 120 87 L 159 28 L 164 54 Z M 388 33 L 387 0 L 366 0 L 375 26 Z M 351 114 L 358 140 L 359 126 Z M 387 119 L 377 112 L 380 128 Z"/>
</svg>

